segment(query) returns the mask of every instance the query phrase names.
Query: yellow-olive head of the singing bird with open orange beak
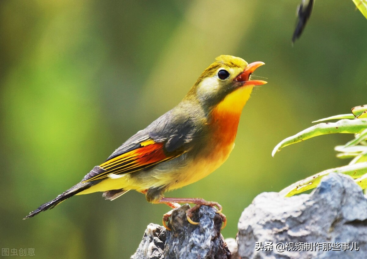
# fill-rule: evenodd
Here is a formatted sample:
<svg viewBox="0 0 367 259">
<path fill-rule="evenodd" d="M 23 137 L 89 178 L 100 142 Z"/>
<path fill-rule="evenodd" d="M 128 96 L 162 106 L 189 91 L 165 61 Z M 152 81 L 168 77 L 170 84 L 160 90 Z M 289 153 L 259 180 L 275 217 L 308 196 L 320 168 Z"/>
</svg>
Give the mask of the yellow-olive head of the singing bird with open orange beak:
<svg viewBox="0 0 367 259">
<path fill-rule="evenodd" d="M 186 98 L 195 97 L 201 106 L 212 109 L 229 95 L 235 95 L 235 99 L 228 101 L 234 102 L 231 105 L 240 106 L 242 109 L 250 97 L 252 88 L 267 83 L 250 79 L 252 72 L 264 64 L 260 61 L 248 64 L 243 59 L 230 55 L 218 56 L 215 62 L 204 70 Z"/>
</svg>

